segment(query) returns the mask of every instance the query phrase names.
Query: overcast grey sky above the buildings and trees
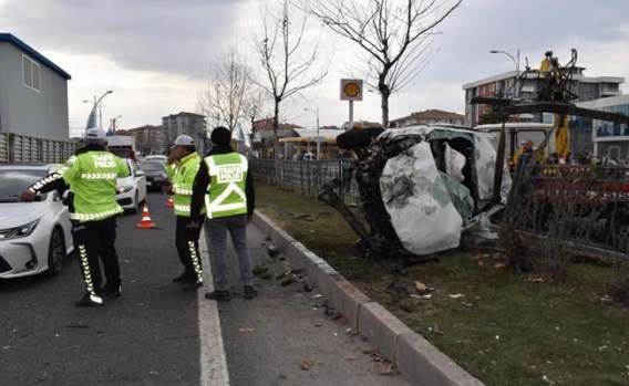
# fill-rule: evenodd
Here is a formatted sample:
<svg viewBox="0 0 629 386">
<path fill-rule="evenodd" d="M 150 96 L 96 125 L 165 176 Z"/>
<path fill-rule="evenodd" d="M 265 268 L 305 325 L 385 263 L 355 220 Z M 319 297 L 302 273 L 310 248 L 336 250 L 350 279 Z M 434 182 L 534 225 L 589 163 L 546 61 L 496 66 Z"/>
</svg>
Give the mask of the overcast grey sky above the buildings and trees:
<svg viewBox="0 0 629 386">
<path fill-rule="evenodd" d="M 270 0 L 262 0 L 270 1 Z M 364 0 L 367 1 L 367 0 Z M 417 0 L 419 1 L 419 0 Z M 628 0 L 463 0 L 444 21 L 439 52 L 408 91 L 390 101 L 390 119 L 439 108 L 463 114 L 462 85 L 515 70 L 505 54 L 520 52 L 538 67 L 548 50 L 560 63 L 577 49 L 586 76 L 629 81 Z M 103 100 L 103 126 L 122 115 L 118 128 L 159 125 L 163 116 L 197 112 L 212 61 L 221 61 L 235 43 L 251 52 L 250 30 L 259 19 L 258 0 L 0 0 L 0 32 L 9 32 L 70 73 L 70 127 L 84 128 L 93 105 Z M 340 126 L 348 102 L 339 101 L 339 81 L 352 46 L 323 30 L 333 52 L 326 81 L 287 104 L 291 123 Z M 305 46 L 305 49 L 308 49 Z M 625 93 L 629 87 L 622 85 Z M 89 101 L 87 103 L 83 101 Z M 354 119 L 381 121 L 380 100 L 365 93 L 354 103 Z"/>
</svg>

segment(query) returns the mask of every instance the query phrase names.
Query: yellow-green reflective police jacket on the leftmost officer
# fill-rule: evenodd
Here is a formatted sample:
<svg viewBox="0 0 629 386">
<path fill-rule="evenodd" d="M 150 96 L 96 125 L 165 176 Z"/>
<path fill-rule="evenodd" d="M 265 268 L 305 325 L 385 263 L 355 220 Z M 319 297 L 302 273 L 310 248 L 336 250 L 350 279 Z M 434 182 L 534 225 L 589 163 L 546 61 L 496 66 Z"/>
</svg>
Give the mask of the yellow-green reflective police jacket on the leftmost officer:
<svg viewBox="0 0 629 386">
<path fill-rule="evenodd" d="M 128 166 L 104 150 L 86 152 L 70 157 L 56 173 L 73 194 L 71 220 L 103 220 L 122 213 L 116 202 L 116 181 L 130 174 Z"/>
</svg>

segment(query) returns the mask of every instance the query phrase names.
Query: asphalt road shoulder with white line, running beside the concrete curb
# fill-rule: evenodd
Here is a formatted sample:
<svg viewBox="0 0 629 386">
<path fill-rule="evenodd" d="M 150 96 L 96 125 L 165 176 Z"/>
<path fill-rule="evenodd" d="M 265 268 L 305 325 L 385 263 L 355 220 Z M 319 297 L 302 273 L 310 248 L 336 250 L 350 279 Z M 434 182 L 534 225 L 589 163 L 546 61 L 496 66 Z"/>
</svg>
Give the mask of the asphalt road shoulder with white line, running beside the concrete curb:
<svg viewBox="0 0 629 386">
<path fill-rule="evenodd" d="M 202 238 L 204 263 L 207 244 Z M 248 241 L 254 265 L 267 269 L 256 278 L 258 296 L 245 300 L 235 251 L 228 242 L 230 302 L 205 299 L 213 285 L 209 265 L 198 291 L 202 385 L 409 386 L 306 272 L 303 280 L 287 271 L 299 269 L 283 254 L 269 255 L 265 233 L 251 223 Z"/>
</svg>

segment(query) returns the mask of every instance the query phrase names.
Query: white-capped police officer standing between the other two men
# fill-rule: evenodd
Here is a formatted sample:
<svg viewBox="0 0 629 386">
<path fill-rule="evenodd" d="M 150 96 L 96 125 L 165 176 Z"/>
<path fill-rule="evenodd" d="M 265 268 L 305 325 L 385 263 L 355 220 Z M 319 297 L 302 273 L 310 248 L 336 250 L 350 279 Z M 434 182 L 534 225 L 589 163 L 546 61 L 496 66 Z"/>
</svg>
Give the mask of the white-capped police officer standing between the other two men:
<svg viewBox="0 0 629 386">
<path fill-rule="evenodd" d="M 194 291 L 203 285 L 203 270 L 198 252 L 198 238 L 204 221 L 205 207 L 195 219 L 199 227 L 190 227 L 190 199 L 193 184 L 202 161 L 196 152 L 195 140 L 189 135 L 179 135 L 172 147 L 172 157 L 168 157 L 168 180 L 164 187 L 168 195 L 173 195 L 175 216 L 177 217 L 175 230 L 175 246 L 184 272 L 173 279 L 175 283 L 183 283 L 184 291 Z"/>
</svg>

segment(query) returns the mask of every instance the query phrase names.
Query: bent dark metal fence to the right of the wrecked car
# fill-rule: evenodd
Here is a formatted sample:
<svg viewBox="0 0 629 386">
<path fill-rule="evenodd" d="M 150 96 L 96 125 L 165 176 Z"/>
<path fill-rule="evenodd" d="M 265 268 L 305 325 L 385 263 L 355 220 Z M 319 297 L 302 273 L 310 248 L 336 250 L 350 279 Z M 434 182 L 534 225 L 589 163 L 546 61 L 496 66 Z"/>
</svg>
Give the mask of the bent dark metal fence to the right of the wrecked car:
<svg viewBox="0 0 629 386">
<path fill-rule="evenodd" d="M 611 257 L 618 280 L 627 280 L 629 168 L 625 166 L 539 165 L 514 176 L 502 227 L 505 250 L 526 269 L 523 240 L 542 246 L 549 280 L 563 281 L 577 253 Z M 524 238 L 515 236 L 519 232 Z M 526 241 L 524 241 L 526 242 Z M 512 261 L 513 262 L 513 261 Z M 629 284 L 629 283 L 628 283 Z"/>
</svg>

